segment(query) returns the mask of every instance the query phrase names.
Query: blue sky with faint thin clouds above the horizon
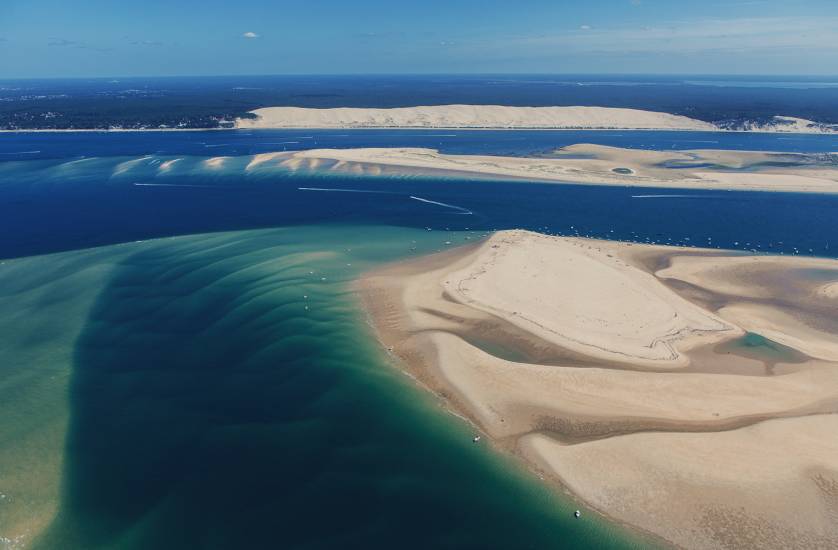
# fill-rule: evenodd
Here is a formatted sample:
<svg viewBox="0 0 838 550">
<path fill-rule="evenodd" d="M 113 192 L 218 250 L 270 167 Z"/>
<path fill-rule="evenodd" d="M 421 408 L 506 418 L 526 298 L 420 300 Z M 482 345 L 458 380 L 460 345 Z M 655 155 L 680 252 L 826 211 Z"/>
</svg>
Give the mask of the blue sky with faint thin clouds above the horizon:
<svg viewBox="0 0 838 550">
<path fill-rule="evenodd" d="M 838 0 L 0 0 L 0 77 L 838 75 Z"/>
</svg>

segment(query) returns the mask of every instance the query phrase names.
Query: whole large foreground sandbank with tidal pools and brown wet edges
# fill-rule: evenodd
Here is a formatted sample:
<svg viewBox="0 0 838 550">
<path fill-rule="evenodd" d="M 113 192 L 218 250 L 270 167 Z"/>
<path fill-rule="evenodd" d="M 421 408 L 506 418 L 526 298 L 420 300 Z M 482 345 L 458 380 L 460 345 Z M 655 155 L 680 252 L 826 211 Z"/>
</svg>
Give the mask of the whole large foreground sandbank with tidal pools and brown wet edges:
<svg viewBox="0 0 838 550">
<path fill-rule="evenodd" d="M 367 274 L 382 344 L 499 447 L 686 548 L 838 546 L 838 261 L 503 231 Z"/>
</svg>

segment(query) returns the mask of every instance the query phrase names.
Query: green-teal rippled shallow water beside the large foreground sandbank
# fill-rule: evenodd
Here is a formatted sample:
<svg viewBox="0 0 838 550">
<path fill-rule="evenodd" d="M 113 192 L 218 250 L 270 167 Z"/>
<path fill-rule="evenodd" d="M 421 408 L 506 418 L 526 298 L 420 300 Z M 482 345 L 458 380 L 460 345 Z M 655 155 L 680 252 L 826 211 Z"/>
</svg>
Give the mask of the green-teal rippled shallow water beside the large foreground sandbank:
<svg viewBox="0 0 838 550">
<path fill-rule="evenodd" d="M 6 261 L 0 536 L 69 549 L 647 547 L 594 513 L 574 520 L 578 504 L 472 444 L 387 364 L 349 283 L 464 236 L 319 226 Z"/>
</svg>

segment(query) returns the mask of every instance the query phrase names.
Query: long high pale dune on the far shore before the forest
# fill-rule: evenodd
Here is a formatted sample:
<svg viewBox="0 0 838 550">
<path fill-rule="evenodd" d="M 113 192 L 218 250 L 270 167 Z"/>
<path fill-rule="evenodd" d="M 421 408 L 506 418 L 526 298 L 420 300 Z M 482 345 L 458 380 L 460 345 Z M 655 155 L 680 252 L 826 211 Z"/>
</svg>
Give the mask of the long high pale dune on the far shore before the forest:
<svg viewBox="0 0 838 550">
<path fill-rule="evenodd" d="M 685 116 L 609 107 L 434 105 L 394 109 L 265 107 L 237 128 L 551 128 L 705 130 L 718 128 Z"/>
</svg>

